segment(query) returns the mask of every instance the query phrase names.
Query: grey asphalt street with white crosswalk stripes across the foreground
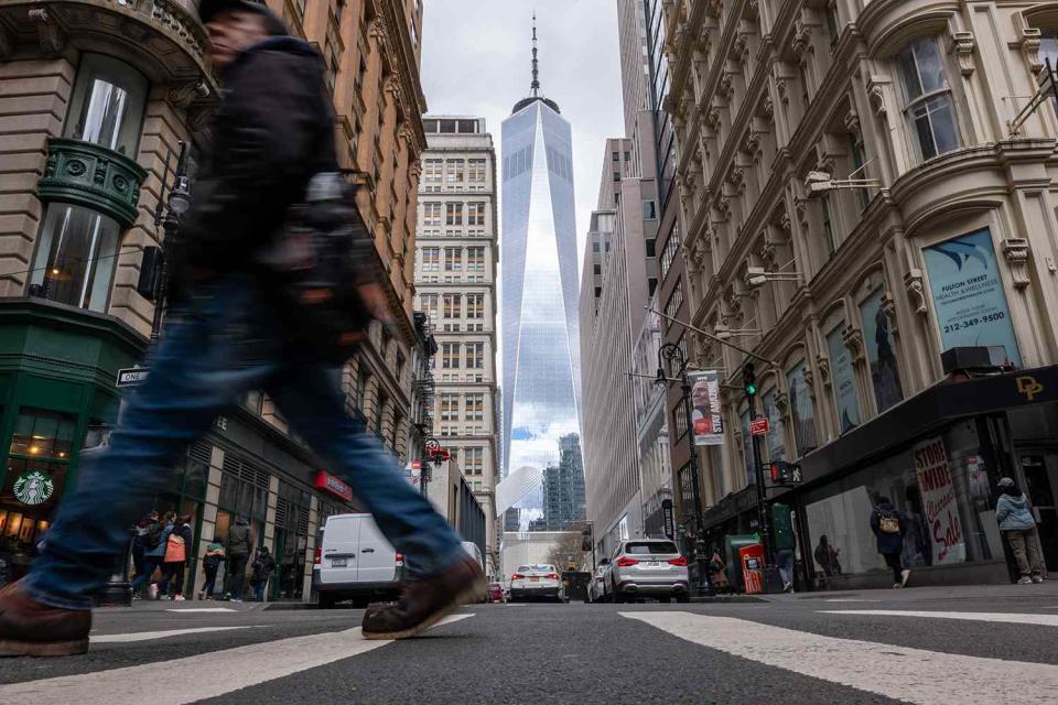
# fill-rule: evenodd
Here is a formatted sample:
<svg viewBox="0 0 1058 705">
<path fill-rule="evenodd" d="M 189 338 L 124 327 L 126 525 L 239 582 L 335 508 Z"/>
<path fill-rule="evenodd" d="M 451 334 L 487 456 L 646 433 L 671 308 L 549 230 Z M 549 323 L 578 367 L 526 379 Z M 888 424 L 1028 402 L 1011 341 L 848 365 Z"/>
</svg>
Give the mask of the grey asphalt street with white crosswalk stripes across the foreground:
<svg viewBox="0 0 1058 705">
<path fill-rule="evenodd" d="M 187 611 L 202 608 L 230 611 Z M 1058 701 L 1058 581 L 757 604 L 475 605 L 399 642 L 364 640 L 361 614 L 100 610 L 85 657 L 0 659 L 0 703 Z"/>
</svg>

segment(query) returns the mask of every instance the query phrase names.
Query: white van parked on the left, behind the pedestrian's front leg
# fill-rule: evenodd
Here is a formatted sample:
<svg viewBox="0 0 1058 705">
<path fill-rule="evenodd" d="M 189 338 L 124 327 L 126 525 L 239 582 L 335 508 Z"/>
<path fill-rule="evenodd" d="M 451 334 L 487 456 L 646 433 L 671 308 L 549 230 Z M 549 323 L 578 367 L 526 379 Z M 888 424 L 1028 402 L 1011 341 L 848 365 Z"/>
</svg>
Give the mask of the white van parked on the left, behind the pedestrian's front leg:
<svg viewBox="0 0 1058 705">
<path fill-rule="evenodd" d="M 370 514 L 334 514 L 316 536 L 312 587 L 323 608 L 397 599 L 403 566 Z"/>
</svg>

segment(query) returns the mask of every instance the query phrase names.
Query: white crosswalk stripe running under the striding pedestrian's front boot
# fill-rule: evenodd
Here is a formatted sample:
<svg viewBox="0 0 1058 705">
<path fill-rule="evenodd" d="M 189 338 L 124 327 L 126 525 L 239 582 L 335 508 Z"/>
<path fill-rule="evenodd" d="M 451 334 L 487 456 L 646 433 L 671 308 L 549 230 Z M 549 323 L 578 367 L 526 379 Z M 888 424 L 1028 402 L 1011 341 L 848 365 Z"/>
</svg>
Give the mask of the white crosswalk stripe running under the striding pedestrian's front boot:
<svg viewBox="0 0 1058 705">
<path fill-rule="evenodd" d="M 451 615 L 435 627 L 469 615 Z M 293 675 L 392 643 L 368 640 L 360 628 L 293 637 L 195 657 L 0 685 L 4 705 L 184 705 Z"/>
</svg>

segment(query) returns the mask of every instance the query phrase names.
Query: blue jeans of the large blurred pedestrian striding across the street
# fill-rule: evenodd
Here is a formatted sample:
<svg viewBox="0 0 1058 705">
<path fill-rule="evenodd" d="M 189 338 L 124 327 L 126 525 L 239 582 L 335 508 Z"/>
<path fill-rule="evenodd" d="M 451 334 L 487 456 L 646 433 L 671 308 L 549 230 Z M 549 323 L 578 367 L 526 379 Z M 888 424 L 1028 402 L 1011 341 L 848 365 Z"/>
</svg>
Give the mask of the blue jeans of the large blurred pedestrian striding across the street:
<svg viewBox="0 0 1058 705">
<path fill-rule="evenodd" d="M 181 454 L 237 399 L 263 389 L 331 464 L 412 574 L 465 556 L 460 539 L 397 458 L 345 412 L 334 371 L 287 341 L 248 276 L 202 285 L 166 318 L 151 372 L 128 399 L 105 453 L 86 458 L 23 586 L 46 605 L 89 609 L 128 545 L 128 527 L 164 491 Z"/>
</svg>

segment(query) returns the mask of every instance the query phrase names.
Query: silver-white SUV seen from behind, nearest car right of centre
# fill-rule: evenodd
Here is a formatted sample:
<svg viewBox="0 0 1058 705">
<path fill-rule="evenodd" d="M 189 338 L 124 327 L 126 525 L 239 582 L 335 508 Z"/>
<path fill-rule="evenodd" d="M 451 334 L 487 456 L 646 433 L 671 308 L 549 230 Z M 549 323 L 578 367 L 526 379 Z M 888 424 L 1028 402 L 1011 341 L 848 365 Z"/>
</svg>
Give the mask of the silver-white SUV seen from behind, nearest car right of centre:
<svg viewBox="0 0 1058 705">
<path fill-rule="evenodd" d="M 690 600 L 687 558 L 667 540 L 622 541 L 606 566 L 604 584 L 615 603 L 637 597 Z"/>
</svg>

